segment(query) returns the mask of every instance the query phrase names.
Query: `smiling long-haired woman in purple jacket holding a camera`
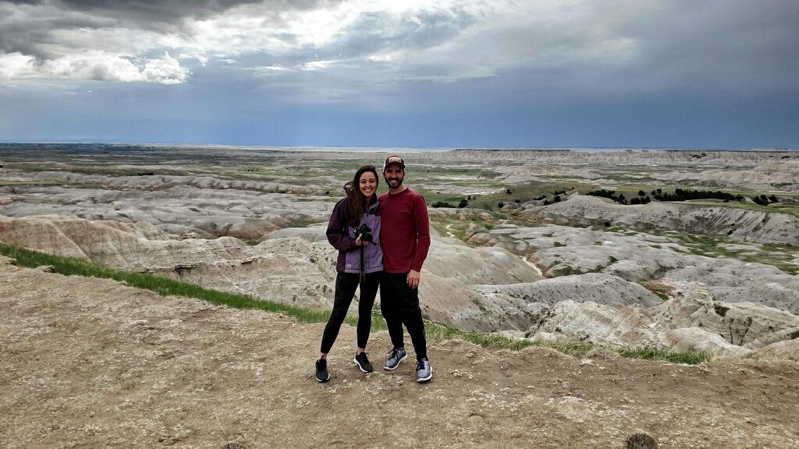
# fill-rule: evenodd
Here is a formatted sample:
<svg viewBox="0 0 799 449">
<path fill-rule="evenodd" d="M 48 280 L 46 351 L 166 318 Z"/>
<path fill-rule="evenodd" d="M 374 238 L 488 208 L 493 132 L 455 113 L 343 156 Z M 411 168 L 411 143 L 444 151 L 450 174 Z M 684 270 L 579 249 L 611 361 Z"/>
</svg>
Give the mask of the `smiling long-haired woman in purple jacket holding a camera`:
<svg viewBox="0 0 799 449">
<path fill-rule="evenodd" d="M 363 372 L 372 372 L 366 349 L 372 329 L 372 305 L 383 274 L 380 250 L 380 203 L 377 201 L 377 171 L 371 165 L 360 167 L 351 183 L 344 185 L 347 197 L 333 208 L 328 223 L 328 242 L 339 250 L 336 263 L 336 294 L 333 311 L 324 326 L 316 380 L 327 382 L 328 353 L 339 335 L 341 323 L 360 285 L 358 302 L 358 349 L 352 361 Z"/>
</svg>

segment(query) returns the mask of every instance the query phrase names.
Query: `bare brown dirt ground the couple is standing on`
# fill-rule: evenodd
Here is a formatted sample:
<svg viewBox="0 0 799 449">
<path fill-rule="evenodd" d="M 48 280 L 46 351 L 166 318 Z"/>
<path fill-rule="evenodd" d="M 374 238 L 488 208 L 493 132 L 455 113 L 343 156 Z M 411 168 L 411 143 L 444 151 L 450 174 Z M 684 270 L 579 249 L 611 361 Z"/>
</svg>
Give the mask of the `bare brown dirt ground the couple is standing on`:
<svg viewBox="0 0 799 449">
<path fill-rule="evenodd" d="M 9 448 L 799 447 L 799 364 L 686 366 L 433 345 L 364 375 L 354 329 L 312 380 L 324 325 L 159 297 L 0 259 L 0 439 Z M 388 336 L 377 333 L 382 364 Z"/>
</svg>

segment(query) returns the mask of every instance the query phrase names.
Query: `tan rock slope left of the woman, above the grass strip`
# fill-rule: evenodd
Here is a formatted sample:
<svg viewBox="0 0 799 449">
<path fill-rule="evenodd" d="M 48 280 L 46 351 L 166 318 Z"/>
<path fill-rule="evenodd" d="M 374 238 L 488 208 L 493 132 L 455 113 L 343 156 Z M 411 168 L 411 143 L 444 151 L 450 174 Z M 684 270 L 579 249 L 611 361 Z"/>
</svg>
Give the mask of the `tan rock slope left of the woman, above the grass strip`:
<svg viewBox="0 0 799 449">
<path fill-rule="evenodd" d="M 177 238 L 149 223 L 0 218 L 0 240 L 289 305 L 332 304 L 335 254 L 301 238 L 247 246 L 237 238 Z"/>
</svg>

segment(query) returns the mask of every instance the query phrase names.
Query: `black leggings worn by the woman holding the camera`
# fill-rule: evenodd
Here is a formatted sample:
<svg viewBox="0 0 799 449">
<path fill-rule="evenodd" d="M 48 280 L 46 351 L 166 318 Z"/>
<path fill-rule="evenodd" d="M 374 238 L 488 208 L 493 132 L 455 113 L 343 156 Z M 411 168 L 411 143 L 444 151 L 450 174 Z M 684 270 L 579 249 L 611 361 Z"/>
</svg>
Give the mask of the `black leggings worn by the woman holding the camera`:
<svg viewBox="0 0 799 449">
<path fill-rule="evenodd" d="M 372 306 L 375 305 L 375 296 L 381 278 L 383 278 L 382 271 L 367 273 L 364 285 L 361 286 L 357 327 L 359 348 L 366 348 L 366 343 L 369 340 L 369 331 L 372 330 Z M 322 333 L 321 353 L 329 353 L 333 343 L 336 342 L 341 323 L 344 322 L 344 317 L 347 317 L 347 311 L 352 297 L 355 296 L 359 281 L 360 274 L 357 273 L 338 272 L 336 274 L 336 296 L 333 299 L 333 311 L 330 313 L 328 324 L 324 326 L 324 333 Z"/>
</svg>

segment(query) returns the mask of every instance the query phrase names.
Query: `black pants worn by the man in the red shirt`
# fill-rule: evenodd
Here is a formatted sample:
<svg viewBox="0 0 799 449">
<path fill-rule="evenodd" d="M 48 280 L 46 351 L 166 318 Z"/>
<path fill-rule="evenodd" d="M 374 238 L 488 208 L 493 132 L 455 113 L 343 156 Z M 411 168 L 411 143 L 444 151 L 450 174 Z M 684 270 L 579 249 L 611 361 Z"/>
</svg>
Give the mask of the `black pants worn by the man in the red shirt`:
<svg viewBox="0 0 799 449">
<path fill-rule="evenodd" d="M 388 325 L 394 349 L 403 348 L 402 325 L 411 335 L 416 360 L 427 358 L 427 338 L 424 336 L 422 309 L 419 308 L 419 289 L 407 286 L 407 273 L 385 273 L 380 282 L 380 311 Z"/>
</svg>

